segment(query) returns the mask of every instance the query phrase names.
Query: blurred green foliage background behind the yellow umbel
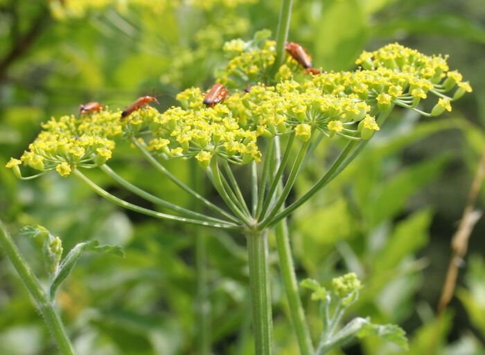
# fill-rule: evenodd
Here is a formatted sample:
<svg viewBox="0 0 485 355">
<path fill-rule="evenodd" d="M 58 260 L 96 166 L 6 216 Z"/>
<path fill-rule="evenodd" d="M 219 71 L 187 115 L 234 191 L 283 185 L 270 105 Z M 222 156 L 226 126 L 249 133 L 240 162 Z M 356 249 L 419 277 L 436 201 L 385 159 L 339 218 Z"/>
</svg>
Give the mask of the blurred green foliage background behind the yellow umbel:
<svg viewBox="0 0 485 355">
<path fill-rule="evenodd" d="M 64 251 L 97 238 L 127 253 L 124 260 L 82 257 L 62 286 L 58 306 L 80 355 L 197 354 L 195 230 L 120 210 L 74 178 L 19 182 L 3 166 L 21 155 L 40 122 L 76 113 L 80 103 L 124 107 L 155 92 L 165 109 L 186 87 L 206 89 L 224 66 L 224 41 L 249 39 L 262 28 L 275 32 L 278 13 L 276 0 L 0 0 L 0 218 L 14 237 L 25 224 L 46 226 L 62 237 Z M 443 118 L 395 111 L 358 160 L 297 211 L 290 230 L 299 277 L 325 283 L 358 273 L 365 287 L 354 315 L 402 325 L 409 354 L 430 354 L 433 343 L 435 354 L 485 354 L 484 219 L 471 236 L 457 297 L 441 324 L 434 318 L 450 239 L 485 147 L 484 0 L 295 0 L 289 39 L 325 70 L 353 69 L 362 50 L 400 42 L 428 55 L 449 54 L 450 67 L 470 80 L 473 93 Z M 339 146 L 331 140 L 317 149 L 294 194 L 324 172 Z M 128 146 L 116 150 L 111 165 L 161 197 L 191 203 Z M 189 164 L 168 166 L 191 181 Z M 143 203 L 100 172 L 92 176 Z M 252 354 L 243 237 L 203 233 L 213 352 Z M 45 280 L 39 245 L 15 240 Z M 272 260 L 276 354 L 297 354 L 276 254 Z M 316 339 L 317 304 L 306 293 L 303 303 Z M 0 354 L 55 354 L 1 253 Z M 404 352 L 371 338 L 341 354 Z"/>
</svg>

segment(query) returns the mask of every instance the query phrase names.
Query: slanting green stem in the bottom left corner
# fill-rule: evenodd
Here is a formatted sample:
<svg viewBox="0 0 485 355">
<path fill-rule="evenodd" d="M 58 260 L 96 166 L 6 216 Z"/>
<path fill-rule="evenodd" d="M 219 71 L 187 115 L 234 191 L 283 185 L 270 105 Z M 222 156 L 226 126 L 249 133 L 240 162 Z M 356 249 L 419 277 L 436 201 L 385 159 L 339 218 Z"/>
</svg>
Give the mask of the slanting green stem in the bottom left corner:
<svg viewBox="0 0 485 355">
<path fill-rule="evenodd" d="M 40 286 L 39 281 L 28 267 L 24 257 L 21 256 L 17 246 L 8 234 L 5 226 L 0 221 L 0 246 L 5 251 L 8 259 L 12 262 L 17 273 L 19 273 L 21 280 L 24 282 L 30 295 L 35 300 L 39 311 L 44 316 L 44 322 L 51 332 L 55 343 L 57 343 L 60 353 L 62 355 L 76 355 L 74 347 L 67 336 L 66 329 L 62 325 L 58 312 L 55 311 L 53 304 L 48 300 L 46 293 Z"/>
</svg>

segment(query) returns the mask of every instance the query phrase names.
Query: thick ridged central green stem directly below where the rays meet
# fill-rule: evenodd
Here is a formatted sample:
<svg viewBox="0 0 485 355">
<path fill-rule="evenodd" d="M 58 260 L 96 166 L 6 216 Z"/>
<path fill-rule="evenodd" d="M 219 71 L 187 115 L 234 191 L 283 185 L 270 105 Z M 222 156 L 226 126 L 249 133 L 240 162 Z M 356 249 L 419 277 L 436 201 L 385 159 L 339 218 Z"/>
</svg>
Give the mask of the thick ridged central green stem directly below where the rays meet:
<svg viewBox="0 0 485 355">
<path fill-rule="evenodd" d="M 271 355 L 273 341 L 267 230 L 246 233 L 256 355 Z"/>
</svg>

